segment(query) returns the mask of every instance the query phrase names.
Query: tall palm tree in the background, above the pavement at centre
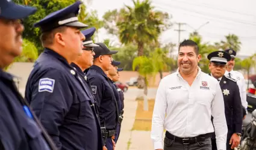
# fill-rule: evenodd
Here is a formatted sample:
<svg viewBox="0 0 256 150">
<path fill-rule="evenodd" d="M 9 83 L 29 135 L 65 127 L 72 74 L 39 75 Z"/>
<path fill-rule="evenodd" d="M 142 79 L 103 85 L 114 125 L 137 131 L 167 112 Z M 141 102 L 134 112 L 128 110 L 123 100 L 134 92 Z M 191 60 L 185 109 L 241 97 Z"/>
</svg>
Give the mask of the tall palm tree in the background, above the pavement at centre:
<svg viewBox="0 0 256 150">
<path fill-rule="evenodd" d="M 144 44 L 158 43 L 161 32 L 169 28 L 169 15 L 154 11 L 149 0 L 133 0 L 133 4 L 134 7 L 125 6 L 126 13 L 121 14 L 122 22 L 117 22 L 117 27 L 120 41 L 124 44 L 136 43 L 138 56 L 142 56 Z"/>
</svg>

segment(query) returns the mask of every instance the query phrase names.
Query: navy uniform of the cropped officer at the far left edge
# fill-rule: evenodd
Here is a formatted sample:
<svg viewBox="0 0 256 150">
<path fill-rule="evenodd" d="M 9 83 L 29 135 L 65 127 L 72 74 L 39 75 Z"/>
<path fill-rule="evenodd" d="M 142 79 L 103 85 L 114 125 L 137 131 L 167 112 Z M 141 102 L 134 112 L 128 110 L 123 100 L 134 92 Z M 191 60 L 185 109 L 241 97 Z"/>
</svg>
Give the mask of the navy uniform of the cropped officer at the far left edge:
<svg viewBox="0 0 256 150">
<path fill-rule="evenodd" d="M 0 149 L 49 149 L 35 117 L 17 91 L 13 76 L 0 70 Z"/>
</svg>

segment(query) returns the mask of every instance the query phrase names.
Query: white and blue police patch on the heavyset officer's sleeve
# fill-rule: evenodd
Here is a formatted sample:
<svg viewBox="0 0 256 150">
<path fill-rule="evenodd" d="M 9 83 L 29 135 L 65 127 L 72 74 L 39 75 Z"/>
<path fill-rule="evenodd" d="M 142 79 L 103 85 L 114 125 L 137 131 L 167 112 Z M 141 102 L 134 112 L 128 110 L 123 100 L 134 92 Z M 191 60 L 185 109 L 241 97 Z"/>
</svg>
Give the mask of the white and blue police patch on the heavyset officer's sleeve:
<svg viewBox="0 0 256 150">
<path fill-rule="evenodd" d="M 38 91 L 39 92 L 53 92 L 54 91 L 54 79 L 49 79 L 49 78 L 43 78 L 39 80 L 39 87 Z"/>
</svg>

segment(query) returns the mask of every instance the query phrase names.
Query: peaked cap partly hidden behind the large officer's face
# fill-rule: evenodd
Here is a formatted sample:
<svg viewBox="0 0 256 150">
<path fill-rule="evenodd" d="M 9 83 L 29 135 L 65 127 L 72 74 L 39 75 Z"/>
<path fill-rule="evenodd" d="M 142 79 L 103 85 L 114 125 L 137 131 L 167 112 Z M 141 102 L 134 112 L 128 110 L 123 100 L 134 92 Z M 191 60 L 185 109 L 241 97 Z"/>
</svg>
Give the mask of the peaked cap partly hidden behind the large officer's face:
<svg viewBox="0 0 256 150">
<path fill-rule="evenodd" d="M 98 46 L 97 44 L 94 44 L 92 41 L 92 35 L 94 34 L 95 31 L 96 31 L 96 28 L 94 28 L 94 27 L 81 31 L 82 34 L 84 34 L 84 37 L 86 37 L 86 40 L 83 41 L 84 46 L 86 46 L 86 47 Z"/>
</svg>

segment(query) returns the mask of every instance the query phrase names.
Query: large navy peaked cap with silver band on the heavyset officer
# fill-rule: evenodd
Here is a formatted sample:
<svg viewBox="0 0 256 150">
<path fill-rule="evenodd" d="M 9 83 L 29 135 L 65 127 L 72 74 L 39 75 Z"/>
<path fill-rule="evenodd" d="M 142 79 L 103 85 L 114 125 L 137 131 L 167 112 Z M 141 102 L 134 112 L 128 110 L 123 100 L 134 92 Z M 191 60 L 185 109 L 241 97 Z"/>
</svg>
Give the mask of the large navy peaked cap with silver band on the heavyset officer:
<svg viewBox="0 0 256 150">
<path fill-rule="evenodd" d="M 66 8 L 55 11 L 35 23 L 34 27 L 40 27 L 42 32 L 51 31 L 59 26 L 85 28 L 88 25 L 79 22 L 77 17 L 81 4 L 81 1 L 76 1 L 74 4 L 69 5 Z"/>
</svg>

